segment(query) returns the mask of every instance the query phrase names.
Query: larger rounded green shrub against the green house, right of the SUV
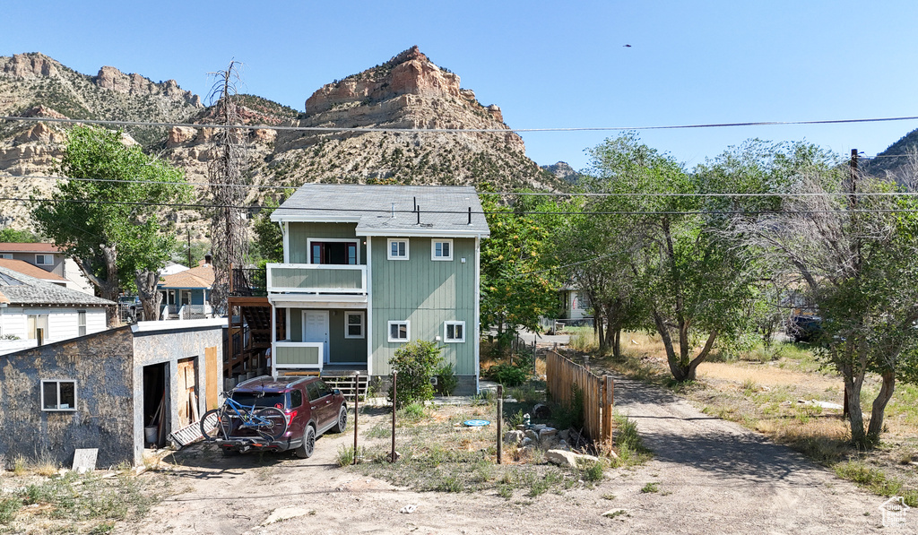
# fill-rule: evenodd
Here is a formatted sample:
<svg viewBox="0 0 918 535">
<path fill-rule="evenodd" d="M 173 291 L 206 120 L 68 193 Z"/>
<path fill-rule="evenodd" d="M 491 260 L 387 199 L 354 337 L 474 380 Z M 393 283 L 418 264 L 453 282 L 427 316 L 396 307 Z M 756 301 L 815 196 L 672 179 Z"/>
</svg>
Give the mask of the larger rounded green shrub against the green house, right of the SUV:
<svg viewBox="0 0 918 535">
<path fill-rule="evenodd" d="M 389 359 L 389 366 L 398 373 L 397 399 L 392 398 L 389 386 L 390 402 L 400 408 L 415 401 L 433 399 L 431 377 L 442 362 L 440 350 L 436 342 L 414 340 L 396 351 Z"/>
</svg>

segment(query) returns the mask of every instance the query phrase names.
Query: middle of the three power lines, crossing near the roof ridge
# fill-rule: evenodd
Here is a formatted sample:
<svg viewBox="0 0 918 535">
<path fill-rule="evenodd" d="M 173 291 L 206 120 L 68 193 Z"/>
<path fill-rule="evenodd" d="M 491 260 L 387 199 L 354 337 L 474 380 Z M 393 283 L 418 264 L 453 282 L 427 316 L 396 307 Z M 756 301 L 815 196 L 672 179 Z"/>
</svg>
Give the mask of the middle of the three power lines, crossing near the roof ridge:
<svg viewBox="0 0 918 535">
<path fill-rule="evenodd" d="M 2 174 L 0 178 L 32 178 L 39 180 L 67 180 L 70 182 L 90 182 L 90 183 L 114 183 L 114 184 L 162 184 L 162 185 L 200 185 L 213 187 L 245 187 L 251 189 L 281 189 L 296 190 L 298 186 L 294 185 L 272 185 L 272 184 L 209 184 L 207 182 L 161 182 L 155 180 L 119 180 L 106 178 L 69 178 L 61 176 L 47 176 L 39 174 Z M 311 184 L 311 183 L 310 183 Z M 374 184 L 369 184 L 374 185 Z M 386 184 L 382 184 L 386 185 Z M 415 186 L 417 187 L 417 186 Z M 438 187 L 438 184 L 431 184 L 427 187 Z M 477 192 L 478 195 L 499 195 L 499 196 L 555 196 L 555 197 L 820 197 L 820 196 L 851 196 L 851 193 L 845 192 L 822 192 L 822 193 L 665 193 L 665 192 L 645 192 L 645 193 L 590 193 L 590 192 Z M 918 192 L 858 192 L 856 196 L 918 196 Z M 230 206 L 231 207 L 231 206 Z"/>
</svg>

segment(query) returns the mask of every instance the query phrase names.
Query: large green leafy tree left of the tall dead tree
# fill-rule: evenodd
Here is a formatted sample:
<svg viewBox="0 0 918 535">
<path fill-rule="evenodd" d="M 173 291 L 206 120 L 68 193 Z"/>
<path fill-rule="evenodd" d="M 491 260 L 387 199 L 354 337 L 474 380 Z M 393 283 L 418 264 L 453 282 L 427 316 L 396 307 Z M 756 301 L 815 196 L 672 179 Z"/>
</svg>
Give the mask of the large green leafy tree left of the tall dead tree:
<svg viewBox="0 0 918 535">
<path fill-rule="evenodd" d="M 136 286 L 145 318 L 157 318 L 159 270 L 175 247 L 158 205 L 185 202 L 191 187 L 168 162 L 126 146 L 120 131 L 70 131 L 50 202 L 33 201 L 39 231 L 80 266 L 102 297 Z M 98 181 L 98 182 L 93 182 Z M 111 319 L 111 318 L 110 318 Z"/>
</svg>

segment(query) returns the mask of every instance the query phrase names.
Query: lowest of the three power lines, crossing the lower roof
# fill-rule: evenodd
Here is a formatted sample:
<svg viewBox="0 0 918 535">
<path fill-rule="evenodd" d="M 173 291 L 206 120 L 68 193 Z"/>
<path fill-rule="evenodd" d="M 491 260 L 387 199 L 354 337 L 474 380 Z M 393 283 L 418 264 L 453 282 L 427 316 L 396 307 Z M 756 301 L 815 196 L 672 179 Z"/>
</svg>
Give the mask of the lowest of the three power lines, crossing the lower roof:
<svg viewBox="0 0 918 535">
<path fill-rule="evenodd" d="M 26 197 L 0 197 L 0 201 L 18 201 L 28 203 L 75 203 L 84 205 L 118 205 L 118 206 L 159 206 L 170 208 L 239 208 L 243 210 L 261 210 L 264 208 L 275 208 L 275 206 L 235 206 L 235 205 L 210 205 L 210 204 L 193 204 L 193 203 L 149 203 L 140 201 L 100 201 L 96 199 L 50 199 L 50 198 L 26 198 Z M 341 212 L 338 207 L 307 207 L 307 206 L 288 206 L 284 210 L 298 211 L 330 211 Z M 374 213 L 374 214 L 418 214 L 415 210 L 392 210 L 390 208 L 348 208 L 349 212 Z M 621 210 L 621 211 L 594 211 L 594 212 L 568 212 L 568 211 L 521 211 L 511 212 L 502 210 L 425 210 L 420 212 L 421 215 L 430 214 L 454 214 L 454 215 L 505 215 L 505 216 L 740 216 L 740 215 L 781 215 L 781 214 L 898 214 L 898 213 L 918 213 L 918 208 L 862 208 L 851 210 Z"/>
</svg>

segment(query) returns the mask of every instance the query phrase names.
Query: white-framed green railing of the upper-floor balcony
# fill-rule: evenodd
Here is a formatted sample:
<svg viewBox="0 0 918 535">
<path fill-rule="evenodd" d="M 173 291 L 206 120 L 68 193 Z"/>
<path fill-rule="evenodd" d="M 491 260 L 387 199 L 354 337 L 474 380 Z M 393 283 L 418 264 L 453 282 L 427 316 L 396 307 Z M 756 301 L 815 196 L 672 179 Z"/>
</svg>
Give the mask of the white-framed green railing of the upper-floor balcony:
<svg viewBox="0 0 918 535">
<path fill-rule="evenodd" d="M 268 294 L 366 294 L 366 266 L 269 263 Z"/>
</svg>

